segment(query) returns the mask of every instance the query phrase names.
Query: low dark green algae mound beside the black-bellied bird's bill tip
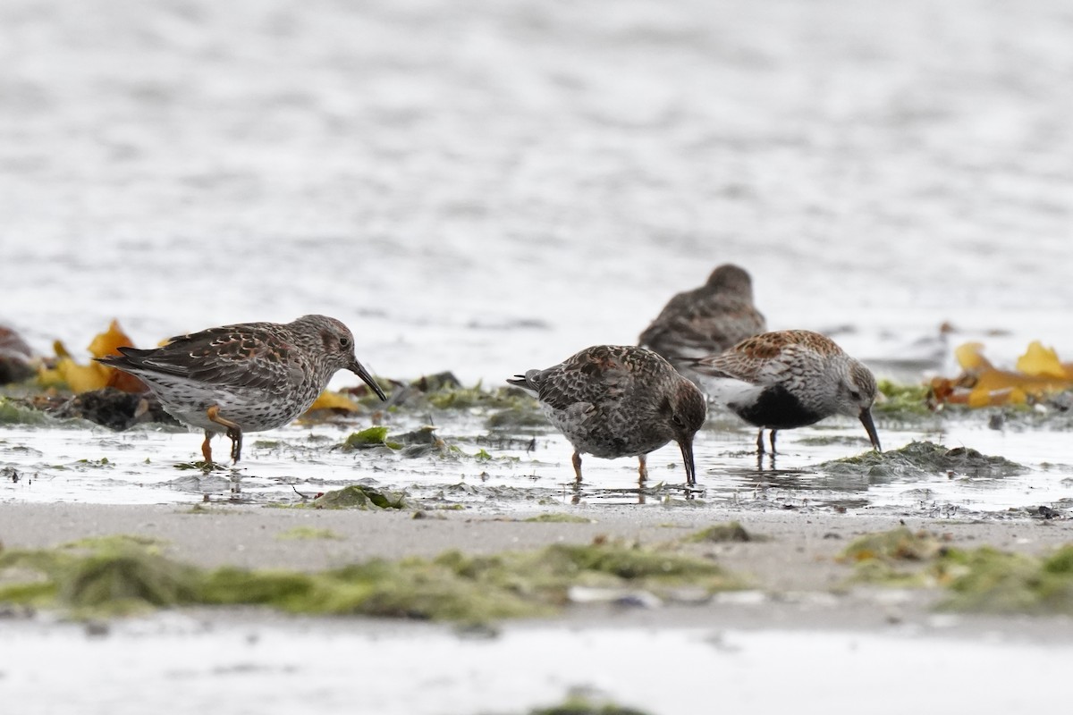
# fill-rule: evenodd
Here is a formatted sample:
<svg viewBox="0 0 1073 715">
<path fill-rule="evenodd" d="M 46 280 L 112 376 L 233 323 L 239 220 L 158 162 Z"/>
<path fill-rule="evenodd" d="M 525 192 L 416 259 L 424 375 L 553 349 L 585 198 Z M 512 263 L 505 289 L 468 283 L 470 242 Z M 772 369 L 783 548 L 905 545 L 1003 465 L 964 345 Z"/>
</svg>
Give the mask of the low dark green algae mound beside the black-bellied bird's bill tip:
<svg viewBox="0 0 1073 715">
<path fill-rule="evenodd" d="M 823 462 L 817 470 L 827 474 L 920 478 L 935 474 L 1004 477 L 1023 474 L 1028 467 L 967 447 L 949 448 L 931 442 L 910 442 L 900 449 L 885 452 L 869 450 L 855 457 Z"/>
</svg>

